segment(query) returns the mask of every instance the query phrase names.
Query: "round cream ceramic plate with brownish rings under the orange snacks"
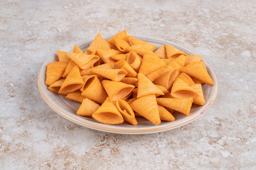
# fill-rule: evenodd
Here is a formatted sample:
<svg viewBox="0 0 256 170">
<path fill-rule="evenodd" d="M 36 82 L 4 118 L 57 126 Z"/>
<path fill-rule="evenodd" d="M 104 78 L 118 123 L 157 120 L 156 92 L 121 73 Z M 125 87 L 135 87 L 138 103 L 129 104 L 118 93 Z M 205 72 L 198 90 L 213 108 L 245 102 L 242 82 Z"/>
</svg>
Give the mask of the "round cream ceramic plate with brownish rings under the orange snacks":
<svg viewBox="0 0 256 170">
<path fill-rule="evenodd" d="M 167 40 L 162 40 L 159 38 L 153 38 L 153 37 L 142 36 L 142 35 L 132 35 L 132 36 L 134 36 L 135 38 L 139 38 L 140 40 L 149 42 L 151 44 L 155 44 L 157 48 L 161 45 L 170 44 L 176 47 L 177 49 L 184 51 L 188 55 L 196 55 L 195 53 L 184 48 L 183 46 L 180 46 L 178 44 L 175 44 Z M 112 35 L 103 36 L 105 40 L 107 40 L 110 37 L 112 37 Z M 94 38 L 89 38 L 89 39 L 81 40 L 78 42 L 74 42 L 59 50 L 72 53 L 74 49 L 74 45 L 76 44 L 77 46 L 79 46 L 79 48 L 82 51 L 85 51 L 93 39 Z M 208 110 L 213 104 L 218 91 L 216 75 L 213 72 L 212 68 L 209 66 L 209 64 L 204 59 L 202 59 L 202 61 L 204 61 L 207 67 L 207 71 L 209 75 L 211 76 L 211 78 L 213 79 L 213 82 L 215 83 L 214 86 L 210 86 L 208 84 L 202 85 L 204 98 L 206 101 L 206 104 L 204 104 L 204 106 L 193 105 L 191 108 L 190 114 L 188 116 L 181 113 L 174 113 L 173 115 L 175 117 L 175 121 L 171 121 L 171 122 L 162 121 L 161 124 L 157 126 L 153 125 L 150 121 L 144 119 L 143 117 L 137 118 L 137 121 L 138 121 L 137 126 L 128 124 L 126 122 L 118 125 L 102 124 L 95 121 L 92 117 L 83 117 L 83 116 L 76 115 L 76 111 L 78 110 L 80 103 L 71 101 L 70 99 L 66 99 L 65 96 L 58 95 L 48 90 L 48 86 L 45 85 L 46 65 L 54 61 L 58 61 L 57 53 L 53 53 L 47 58 L 43 66 L 40 68 L 40 71 L 38 74 L 38 88 L 45 102 L 53 110 L 55 110 L 58 114 L 62 115 L 66 119 L 76 124 L 79 124 L 81 126 L 85 126 L 87 128 L 92 128 L 95 130 L 101 130 L 104 132 L 112 132 L 112 133 L 119 133 L 119 134 L 147 134 L 147 133 L 163 132 L 166 130 L 171 130 L 171 129 L 183 126 L 185 124 L 190 123 L 194 119 L 198 118 L 203 113 L 205 113 L 206 110 Z"/>
</svg>

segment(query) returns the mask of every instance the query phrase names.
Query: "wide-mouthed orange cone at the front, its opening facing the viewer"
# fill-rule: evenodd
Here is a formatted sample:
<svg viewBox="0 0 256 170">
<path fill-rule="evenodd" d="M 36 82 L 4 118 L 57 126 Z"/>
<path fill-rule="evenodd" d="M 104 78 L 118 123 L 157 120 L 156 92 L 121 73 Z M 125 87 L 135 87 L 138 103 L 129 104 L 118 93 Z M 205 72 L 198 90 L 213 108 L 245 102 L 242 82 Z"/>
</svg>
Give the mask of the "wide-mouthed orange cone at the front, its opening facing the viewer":
<svg viewBox="0 0 256 170">
<path fill-rule="evenodd" d="M 92 114 L 92 117 L 103 124 L 121 124 L 124 118 L 119 112 L 115 102 L 106 101 Z"/>
</svg>

